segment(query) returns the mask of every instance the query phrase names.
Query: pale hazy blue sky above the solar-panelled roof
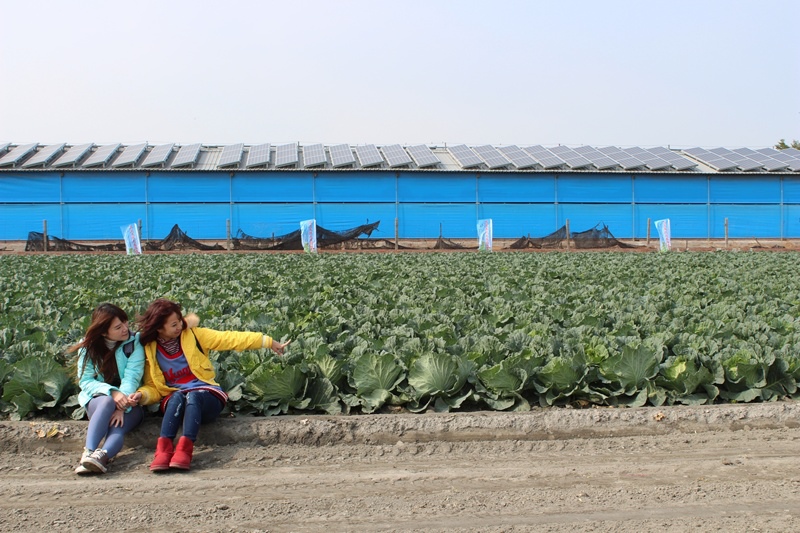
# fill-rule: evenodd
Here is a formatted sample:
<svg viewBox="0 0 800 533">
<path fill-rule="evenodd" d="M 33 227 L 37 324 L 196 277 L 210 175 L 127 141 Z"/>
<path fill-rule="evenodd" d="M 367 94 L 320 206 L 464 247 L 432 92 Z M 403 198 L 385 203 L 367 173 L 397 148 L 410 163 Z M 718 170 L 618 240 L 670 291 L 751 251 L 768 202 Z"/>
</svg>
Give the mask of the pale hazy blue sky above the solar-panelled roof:
<svg viewBox="0 0 800 533">
<path fill-rule="evenodd" d="M 0 144 L 772 146 L 797 0 L 0 0 Z"/>
</svg>

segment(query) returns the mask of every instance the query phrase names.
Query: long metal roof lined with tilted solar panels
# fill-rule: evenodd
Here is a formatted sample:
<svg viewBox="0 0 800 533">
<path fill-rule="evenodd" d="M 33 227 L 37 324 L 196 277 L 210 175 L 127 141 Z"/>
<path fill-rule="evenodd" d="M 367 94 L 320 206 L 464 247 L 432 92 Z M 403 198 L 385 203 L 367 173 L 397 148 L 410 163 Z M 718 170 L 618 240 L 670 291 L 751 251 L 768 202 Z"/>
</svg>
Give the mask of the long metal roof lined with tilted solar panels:
<svg viewBox="0 0 800 533">
<path fill-rule="evenodd" d="M 796 173 L 800 172 L 800 150 L 465 144 L 40 145 L 0 142 L 0 172 L 76 170 Z"/>
</svg>

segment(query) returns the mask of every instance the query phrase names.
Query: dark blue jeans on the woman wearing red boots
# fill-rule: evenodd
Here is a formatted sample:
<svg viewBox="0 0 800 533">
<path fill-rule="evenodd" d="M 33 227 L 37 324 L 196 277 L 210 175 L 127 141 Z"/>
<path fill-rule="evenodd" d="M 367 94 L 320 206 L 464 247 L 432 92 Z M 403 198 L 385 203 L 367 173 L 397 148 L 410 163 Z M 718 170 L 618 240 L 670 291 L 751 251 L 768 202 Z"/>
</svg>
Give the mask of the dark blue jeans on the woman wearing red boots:
<svg viewBox="0 0 800 533">
<path fill-rule="evenodd" d="M 174 439 L 183 427 L 183 436 L 194 442 L 200 424 L 217 419 L 225 404 L 209 391 L 173 392 L 164 407 L 161 436 Z"/>
</svg>

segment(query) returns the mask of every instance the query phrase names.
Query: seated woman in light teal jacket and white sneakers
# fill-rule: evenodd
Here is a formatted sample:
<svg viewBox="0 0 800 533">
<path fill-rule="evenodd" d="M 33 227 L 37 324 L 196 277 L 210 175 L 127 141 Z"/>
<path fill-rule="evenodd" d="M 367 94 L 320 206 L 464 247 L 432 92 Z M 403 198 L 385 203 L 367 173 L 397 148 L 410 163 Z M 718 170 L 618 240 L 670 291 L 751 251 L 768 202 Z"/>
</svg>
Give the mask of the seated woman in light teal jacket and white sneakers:
<svg viewBox="0 0 800 533">
<path fill-rule="evenodd" d="M 89 416 L 86 445 L 77 474 L 101 473 L 122 449 L 125 434 L 142 422 L 144 412 L 130 396 L 144 372 L 139 335 L 128 329 L 128 315 L 105 303 L 92 313 L 86 335 L 70 348 L 78 351 L 78 402 Z M 101 446 L 102 442 L 102 446 Z"/>
</svg>

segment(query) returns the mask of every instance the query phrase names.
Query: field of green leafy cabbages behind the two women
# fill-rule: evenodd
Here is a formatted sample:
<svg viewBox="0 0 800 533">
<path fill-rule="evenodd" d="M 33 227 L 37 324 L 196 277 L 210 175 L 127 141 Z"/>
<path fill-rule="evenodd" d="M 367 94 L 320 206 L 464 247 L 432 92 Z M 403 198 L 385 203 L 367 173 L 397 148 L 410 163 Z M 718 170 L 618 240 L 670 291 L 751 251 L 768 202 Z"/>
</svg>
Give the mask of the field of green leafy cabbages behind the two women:
<svg viewBox="0 0 800 533">
<path fill-rule="evenodd" d="M 212 352 L 235 413 L 529 410 L 797 395 L 794 253 L 0 256 L 3 416 L 78 416 L 65 349 L 110 301 L 293 342 Z"/>
</svg>

